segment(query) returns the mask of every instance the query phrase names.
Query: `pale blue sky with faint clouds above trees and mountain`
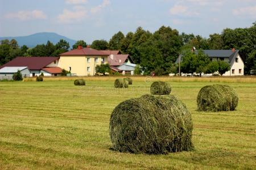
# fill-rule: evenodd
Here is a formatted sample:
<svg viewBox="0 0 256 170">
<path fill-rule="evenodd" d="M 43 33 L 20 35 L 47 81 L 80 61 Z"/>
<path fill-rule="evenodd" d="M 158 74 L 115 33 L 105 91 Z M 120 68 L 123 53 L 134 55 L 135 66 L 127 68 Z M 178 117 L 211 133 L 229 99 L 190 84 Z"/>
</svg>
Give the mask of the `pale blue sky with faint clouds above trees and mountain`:
<svg viewBox="0 0 256 170">
<path fill-rule="evenodd" d="M 56 32 L 90 43 L 139 26 L 154 32 L 166 25 L 208 37 L 250 27 L 256 0 L 0 0 L 0 15 L 0 36 Z"/>
</svg>

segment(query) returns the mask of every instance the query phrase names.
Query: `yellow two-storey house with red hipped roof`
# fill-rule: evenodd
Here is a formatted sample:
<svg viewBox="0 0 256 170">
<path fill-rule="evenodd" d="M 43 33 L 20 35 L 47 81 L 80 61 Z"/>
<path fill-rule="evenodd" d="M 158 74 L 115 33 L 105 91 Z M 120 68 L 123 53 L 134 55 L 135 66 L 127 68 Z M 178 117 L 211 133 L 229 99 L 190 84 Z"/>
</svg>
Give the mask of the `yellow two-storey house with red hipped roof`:
<svg viewBox="0 0 256 170">
<path fill-rule="evenodd" d="M 60 54 L 58 66 L 61 69 L 71 71 L 77 76 L 95 75 L 95 67 L 101 63 L 108 63 L 108 54 L 90 46 L 79 46 L 69 52 Z"/>
</svg>

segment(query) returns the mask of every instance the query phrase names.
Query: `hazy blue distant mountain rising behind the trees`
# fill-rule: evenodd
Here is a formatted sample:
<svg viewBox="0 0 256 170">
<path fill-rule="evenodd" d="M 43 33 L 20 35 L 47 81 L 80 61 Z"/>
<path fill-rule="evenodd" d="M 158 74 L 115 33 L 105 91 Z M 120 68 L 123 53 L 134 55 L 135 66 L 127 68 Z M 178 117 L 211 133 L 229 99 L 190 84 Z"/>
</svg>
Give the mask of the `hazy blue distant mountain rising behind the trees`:
<svg viewBox="0 0 256 170">
<path fill-rule="evenodd" d="M 61 39 L 64 39 L 67 42 L 69 42 L 69 45 L 71 46 L 71 48 L 72 48 L 72 45 L 76 43 L 76 40 L 69 39 L 68 37 L 64 37 L 53 32 L 39 32 L 29 36 L 19 36 L 19 37 L 0 37 L 0 40 L 5 40 L 5 39 L 9 39 L 9 40 L 15 39 L 16 41 L 18 41 L 19 46 L 27 45 L 30 48 L 38 44 L 46 44 L 48 40 L 51 41 L 53 44 L 56 44 Z"/>
</svg>

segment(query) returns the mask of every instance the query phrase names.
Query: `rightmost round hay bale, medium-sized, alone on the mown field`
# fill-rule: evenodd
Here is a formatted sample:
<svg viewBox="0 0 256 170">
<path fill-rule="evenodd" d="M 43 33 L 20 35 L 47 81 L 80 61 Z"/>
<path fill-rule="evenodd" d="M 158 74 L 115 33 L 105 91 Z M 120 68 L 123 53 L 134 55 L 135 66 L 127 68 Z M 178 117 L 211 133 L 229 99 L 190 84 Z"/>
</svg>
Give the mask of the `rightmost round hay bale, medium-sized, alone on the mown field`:
<svg viewBox="0 0 256 170">
<path fill-rule="evenodd" d="M 198 111 L 234 111 L 237 104 L 237 92 L 227 85 L 205 86 L 201 88 L 197 95 Z"/>
</svg>

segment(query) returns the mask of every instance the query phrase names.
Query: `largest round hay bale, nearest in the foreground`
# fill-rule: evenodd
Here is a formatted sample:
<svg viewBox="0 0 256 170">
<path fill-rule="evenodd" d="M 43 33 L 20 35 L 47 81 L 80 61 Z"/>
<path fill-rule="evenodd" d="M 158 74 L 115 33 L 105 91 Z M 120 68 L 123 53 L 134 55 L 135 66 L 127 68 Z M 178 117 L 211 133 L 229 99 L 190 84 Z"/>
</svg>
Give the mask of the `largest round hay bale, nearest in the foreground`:
<svg viewBox="0 0 256 170">
<path fill-rule="evenodd" d="M 189 151 L 192 118 L 175 96 L 142 97 L 123 101 L 110 117 L 113 150 L 135 154 L 166 154 Z"/>
</svg>

